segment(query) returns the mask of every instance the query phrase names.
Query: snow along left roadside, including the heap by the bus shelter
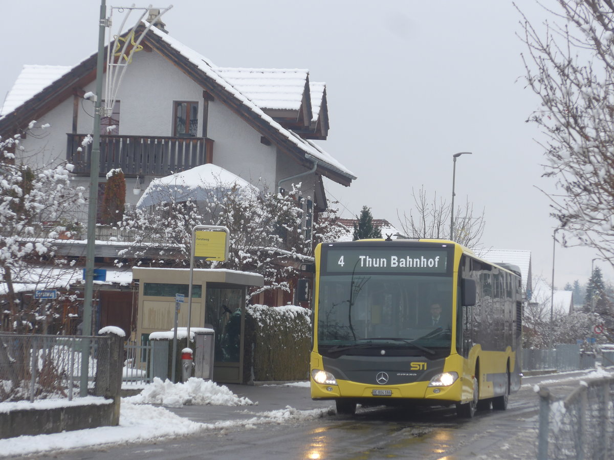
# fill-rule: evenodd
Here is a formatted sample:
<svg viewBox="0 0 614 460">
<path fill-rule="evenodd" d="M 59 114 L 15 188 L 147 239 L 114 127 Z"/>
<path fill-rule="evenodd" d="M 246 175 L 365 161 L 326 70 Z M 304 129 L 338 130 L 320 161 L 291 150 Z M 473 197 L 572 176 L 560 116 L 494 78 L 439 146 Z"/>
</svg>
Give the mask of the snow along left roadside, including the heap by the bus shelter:
<svg viewBox="0 0 614 460">
<path fill-rule="evenodd" d="M 290 406 L 281 410 L 262 412 L 248 420 L 228 420 L 217 423 L 196 423 L 150 404 L 209 404 L 257 405 L 246 397 L 238 397 L 227 386 L 211 381 L 190 378 L 186 383 L 172 384 L 157 379 L 136 396 L 122 398 L 119 426 L 106 426 L 79 431 L 67 431 L 37 436 L 0 439 L 0 457 L 53 453 L 95 445 L 118 445 L 147 442 L 190 435 L 205 430 L 254 429 L 261 424 L 282 424 L 289 421 L 313 420 L 324 416 L 327 409 L 297 410 Z M 300 382 L 304 384 L 304 382 Z M 298 385 L 298 384 L 289 384 Z M 302 386 L 302 385 L 301 385 Z M 200 392 L 201 394 L 196 394 Z M 190 402 L 188 402 L 188 400 Z M 0 406 L 5 403 L 0 403 Z M 248 412 L 246 412 L 248 413 Z"/>
</svg>

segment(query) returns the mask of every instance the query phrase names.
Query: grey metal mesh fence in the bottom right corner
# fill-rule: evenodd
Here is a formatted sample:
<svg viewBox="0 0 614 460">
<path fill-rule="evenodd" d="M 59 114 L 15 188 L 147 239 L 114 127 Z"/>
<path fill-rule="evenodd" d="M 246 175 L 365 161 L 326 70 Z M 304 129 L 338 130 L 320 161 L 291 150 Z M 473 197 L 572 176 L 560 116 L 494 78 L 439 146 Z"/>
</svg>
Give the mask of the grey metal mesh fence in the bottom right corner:
<svg viewBox="0 0 614 460">
<path fill-rule="evenodd" d="M 614 378 L 581 382 L 556 400 L 540 388 L 539 460 L 612 458 Z"/>
</svg>

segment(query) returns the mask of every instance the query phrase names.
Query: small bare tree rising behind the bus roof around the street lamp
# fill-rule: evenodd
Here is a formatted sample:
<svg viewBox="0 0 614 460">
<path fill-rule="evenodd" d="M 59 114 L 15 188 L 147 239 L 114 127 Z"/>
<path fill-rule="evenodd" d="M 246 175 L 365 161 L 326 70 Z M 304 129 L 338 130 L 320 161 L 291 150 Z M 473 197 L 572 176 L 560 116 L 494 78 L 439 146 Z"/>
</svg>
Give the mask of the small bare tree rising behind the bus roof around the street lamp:
<svg viewBox="0 0 614 460">
<path fill-rule="evenodd" d="M 416 194 L 411 189 L 415 207 L 408 216 L 403 212 L 401 217 L 397 210 L 397 217 L 405 236 L 410 238 L 449 239 L 450 237 L 450 210 L 451 205 L 437 193 L 433 194 L 432 201 L 427 197 L 422 186 Z M 473 204 L 467 200 L 464 207 L 454 210 L 454 239 L 468 248 L 476 248 L 484 233 L 484 211 L 478 216 L 473 215 Z"/>
</svg>

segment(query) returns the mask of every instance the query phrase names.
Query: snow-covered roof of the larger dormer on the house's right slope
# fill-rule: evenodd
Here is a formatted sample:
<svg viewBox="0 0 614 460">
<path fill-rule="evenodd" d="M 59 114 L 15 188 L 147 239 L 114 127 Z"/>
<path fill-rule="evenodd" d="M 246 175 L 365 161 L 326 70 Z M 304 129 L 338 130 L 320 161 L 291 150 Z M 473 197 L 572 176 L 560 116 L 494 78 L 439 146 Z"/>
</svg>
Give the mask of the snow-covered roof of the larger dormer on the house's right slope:
<svg viewBox="0 0 614 460">
<path fill-rule="evenodd" d="M 299 110 L 309 72 L 306 69 L 213 67 L 261 109 Z"/>
</svg>

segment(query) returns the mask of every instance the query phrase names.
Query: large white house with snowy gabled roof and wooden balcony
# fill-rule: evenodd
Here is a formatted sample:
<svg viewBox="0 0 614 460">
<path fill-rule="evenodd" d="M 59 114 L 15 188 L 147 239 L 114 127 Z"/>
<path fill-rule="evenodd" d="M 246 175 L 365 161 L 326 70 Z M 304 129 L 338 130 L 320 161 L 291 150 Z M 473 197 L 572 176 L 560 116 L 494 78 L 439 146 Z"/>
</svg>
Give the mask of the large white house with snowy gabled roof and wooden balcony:
<svg viewBox="0 0 614 460">
<path fill-rule="evenodd" d="M 327 207 L 324 180 L 349 186 L 356 178 L 314 142 L 328 136 L 327 94 L 306 69 L 218 67 L 162 23 L 138 49 L 96 128 L 101 190 L 111 169 L 121 168 L 126 189 L 138 193 L 154 178 L 211 163 L 270 190 L 301 183 L 317 215 Z M 73 67 L 25 66 L 0 110 L 0 136 L 21 134 L 18 161 L 68 161 L 86 189 L 94 104 L 85 96 L 95 91 L 96 56 Z M 138 199 L 126 194 L 128 204 Z"/>
</svg>

